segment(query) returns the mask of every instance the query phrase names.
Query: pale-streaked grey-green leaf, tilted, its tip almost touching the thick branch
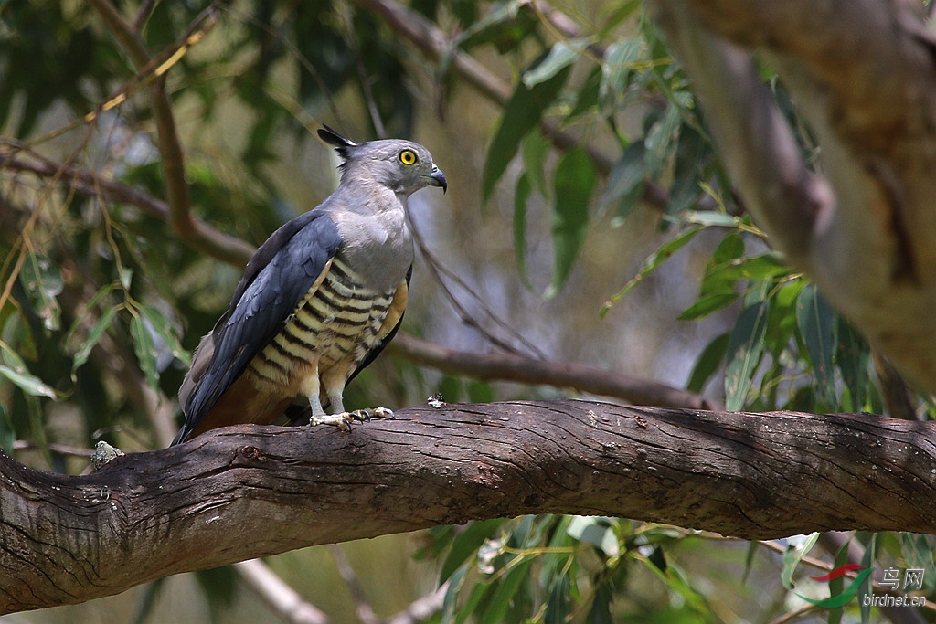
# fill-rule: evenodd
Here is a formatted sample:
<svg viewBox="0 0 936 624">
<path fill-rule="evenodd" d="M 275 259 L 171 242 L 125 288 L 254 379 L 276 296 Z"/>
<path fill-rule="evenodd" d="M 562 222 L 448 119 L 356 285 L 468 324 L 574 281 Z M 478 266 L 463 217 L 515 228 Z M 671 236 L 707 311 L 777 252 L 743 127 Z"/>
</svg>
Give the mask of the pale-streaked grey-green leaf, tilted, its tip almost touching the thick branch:
<svg viewBox="0 0 936 624">
<path fill-rule="evenodd" d="M 738 412 L 744 407 L 752 378 L 764 351 L 767 333 L 768 301 L 745 308 L 731 330 L 728 364 L 724 370 L 725 409 Z"/>
</svg>

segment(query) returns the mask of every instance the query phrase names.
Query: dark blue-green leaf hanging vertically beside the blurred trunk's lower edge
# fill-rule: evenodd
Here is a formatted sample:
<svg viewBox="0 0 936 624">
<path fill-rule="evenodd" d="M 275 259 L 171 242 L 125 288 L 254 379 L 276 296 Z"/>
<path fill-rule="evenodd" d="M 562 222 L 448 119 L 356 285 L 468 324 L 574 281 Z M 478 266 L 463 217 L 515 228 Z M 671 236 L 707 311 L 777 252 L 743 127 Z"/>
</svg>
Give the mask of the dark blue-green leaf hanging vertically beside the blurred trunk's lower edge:
<svg viewBox="0 0 936 624">
<path fill-rule="evenodd" d="M 797 297 L 797 326 L 806 343 L 816 376 L 816 394 L 829 407 L 835 405 L 835 312 L 826 299 L 819 295 L 814 284 L 809 284 Z"/>
</svg>

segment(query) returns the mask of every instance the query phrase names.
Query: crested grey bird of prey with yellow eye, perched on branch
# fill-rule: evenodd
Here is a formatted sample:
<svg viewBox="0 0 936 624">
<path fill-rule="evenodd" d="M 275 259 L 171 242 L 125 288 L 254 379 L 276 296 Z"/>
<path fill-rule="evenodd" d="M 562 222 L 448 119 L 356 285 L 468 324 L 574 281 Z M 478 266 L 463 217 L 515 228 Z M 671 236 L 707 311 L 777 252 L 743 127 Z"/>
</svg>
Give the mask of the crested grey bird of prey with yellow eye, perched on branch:
<svg viewBox="0 0 936 624">
<path fill-rule="evenodd" d="M 244 269 L 230 306 L 198 344 L 179 390 L 183 443 L 213 428 L 271 424 L 298 400 L 309 424 L 350 428 L 387 408 L 344 411 L 344 386 L 402 322 L 413 271 L 409 196 L 448 189 L 425 147 L 355 143 L 324 125 L 337 189 L 277 229 Z"/>
</svg>

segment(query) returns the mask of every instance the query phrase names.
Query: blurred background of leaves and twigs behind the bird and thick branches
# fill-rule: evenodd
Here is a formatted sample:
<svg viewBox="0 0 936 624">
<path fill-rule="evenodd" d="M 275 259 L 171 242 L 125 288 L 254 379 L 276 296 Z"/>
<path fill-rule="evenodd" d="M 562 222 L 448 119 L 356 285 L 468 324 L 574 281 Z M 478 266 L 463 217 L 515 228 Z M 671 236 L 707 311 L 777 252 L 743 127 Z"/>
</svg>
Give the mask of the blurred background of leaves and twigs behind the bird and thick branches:
<svg viewBox="0 0 936 624">
<path fill-rule="evenodd" d="M 639 2 L 24 0 L 0 3 L 0 329 L 17 372 L 0 377 L 3 448 L 77 474 L 98 440 L 127 453 L 168 443 L 188 355 L 250 246 L 336 186 L 321 123 L 355 141 L 416 140 L 449 182 L 410 199 L 407 336 L 349 386 L 349 409 L 594 398 L 423 366 L 416 337 L 633 375 L 712 406 L 884 411 L 860 339 L 856 377 L 815 384 L 795 312 L 811 286 L 736 203 Z M 161 156 L 173 141 L 183 179 Z M 802 147 L 814 150 L 806 131 Z M 188 198 L 173 200 L 180 180 Z M 168 217 L 180 208 L 229 238 L 187 244 Z M 766 328 L 739 323 L 765 302 Z M 726 393 L 744 345 L 760 346 Z M 466 534 L 472 556 L 446 570 Z M 902 538 L 854 539 L 912 562 Z M 548 559 L 546 544 L 564 554 Z M 304 621 L 826 621 L 782 584 L 791 544 L 536 516 L 266 563 L 328 618 Z M 439 590 L 448 576 L 461 585 Z M 252 578 L 184 574 L 0 621 L 303 621 Z M 420 599 L 424 617 L 411 613 Z M 862 615 L 855 603 L 843 617 Z"/>
</svg>

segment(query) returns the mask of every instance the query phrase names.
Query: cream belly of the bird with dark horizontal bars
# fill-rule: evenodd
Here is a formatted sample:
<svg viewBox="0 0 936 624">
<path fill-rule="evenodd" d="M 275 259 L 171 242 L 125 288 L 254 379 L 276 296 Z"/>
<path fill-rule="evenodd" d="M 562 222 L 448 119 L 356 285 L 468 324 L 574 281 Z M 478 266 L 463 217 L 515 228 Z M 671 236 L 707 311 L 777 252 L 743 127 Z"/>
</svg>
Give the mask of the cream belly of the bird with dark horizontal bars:
<svg viewBox="0 0 936 624">
<path fill-rule="evenodd" d="M 378 342 L 393 291 L 379 293 L 365 287 L 338 258 L 332 258 L 323 272 L 318 287 L 310 290 L 251 362 L 248 370 L 256 377 L 298 392 L 309 375 L 321 376 L 341 364 L 346 381 Z"/>
</svg>

